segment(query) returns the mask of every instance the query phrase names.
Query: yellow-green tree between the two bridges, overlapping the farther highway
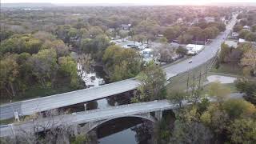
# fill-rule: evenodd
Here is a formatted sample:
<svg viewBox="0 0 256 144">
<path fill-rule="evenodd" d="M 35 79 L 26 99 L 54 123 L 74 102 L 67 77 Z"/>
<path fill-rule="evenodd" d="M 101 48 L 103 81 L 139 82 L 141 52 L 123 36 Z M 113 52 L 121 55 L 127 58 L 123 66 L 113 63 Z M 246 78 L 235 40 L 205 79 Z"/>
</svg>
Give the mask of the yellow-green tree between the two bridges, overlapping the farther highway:
<svg viewBox="0 0 256 144">
<path fill-rule="evenodd" d="M 140 86 L 138 91 L 140 93 L 140 101 L 152 101 L 155 99 L 162 99 L 165 95 L 166 74 L 160 66 L 154 65 L 154 62 L 149 62 L 145 70 L 138 74 L 138 81 Z"/>
</svg>

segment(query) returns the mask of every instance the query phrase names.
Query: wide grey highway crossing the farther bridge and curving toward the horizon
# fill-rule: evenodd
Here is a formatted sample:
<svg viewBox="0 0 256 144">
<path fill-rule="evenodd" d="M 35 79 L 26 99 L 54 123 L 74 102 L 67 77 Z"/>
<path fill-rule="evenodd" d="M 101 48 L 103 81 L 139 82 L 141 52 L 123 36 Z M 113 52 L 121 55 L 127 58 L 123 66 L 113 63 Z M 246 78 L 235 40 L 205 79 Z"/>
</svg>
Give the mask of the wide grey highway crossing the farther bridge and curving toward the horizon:
<svg viewBox="0 0 256 144">
<path fill-rule="evenodd" d="M 218 35 L 216 39 L 206 46 L 201 53 L 194 56 L 193 62 L 188 63 L 190 60 L 179 62 L 175 65 L 164 68 L 166 77 L 172 78 L 177 74 L 193 69 L 196 66 L 202 65 L 204 62 L 214 58 L 221 43 L 224 41 L 230 33 L 230 30 L 235 24 L 235 18 L 230 22 L 230 25 L 226 26 L 226 31 Z M 0 106 L 0 120 L 14 118 L 14 111 L 18 111 L 18 114 L 29 115 L 36 112 L 52 110 L 55 108 L 70 106 L 81 102 L 89 102 L 101 98 L 106 98 L 114 94 L 121 94 L 129 90 L 134 90 L 139 86 L 139 82 L 134 78 L 127 79 L 121 82 L 114 82 L 103 86 L 92 87 L 85 90 L 77 90 L 65 94 L 56 94 L 44 98 L 34 98 L 22 102 L 13 102 L 10 104 Z"/>
</svg>

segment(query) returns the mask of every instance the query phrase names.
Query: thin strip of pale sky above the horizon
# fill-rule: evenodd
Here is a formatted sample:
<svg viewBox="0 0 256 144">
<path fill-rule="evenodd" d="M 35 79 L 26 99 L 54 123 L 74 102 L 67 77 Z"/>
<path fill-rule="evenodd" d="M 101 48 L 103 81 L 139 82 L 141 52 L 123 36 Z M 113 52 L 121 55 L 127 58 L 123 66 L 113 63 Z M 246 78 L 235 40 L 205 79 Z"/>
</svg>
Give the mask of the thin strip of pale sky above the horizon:
<svg viewBox="0 0 256 144">
<path fill-rule="evenodd" d="M 50 3 L 134 3 L 134 4 L 206 4 L 210 2 L 256 2 L 256 0 L 0 0 L 1 3 L 50 2 Z"/>
</svg>

